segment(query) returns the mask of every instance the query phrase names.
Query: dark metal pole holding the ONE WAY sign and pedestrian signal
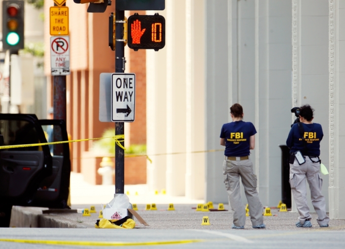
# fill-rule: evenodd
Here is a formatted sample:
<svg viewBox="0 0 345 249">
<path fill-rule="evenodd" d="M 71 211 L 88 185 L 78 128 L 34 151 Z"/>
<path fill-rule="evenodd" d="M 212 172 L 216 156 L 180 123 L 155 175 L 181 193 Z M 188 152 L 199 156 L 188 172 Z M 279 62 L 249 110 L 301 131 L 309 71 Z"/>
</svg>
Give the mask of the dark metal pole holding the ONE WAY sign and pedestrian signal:
<svg viewBox="0 0 345 249">
<path fill-rule="evenodd" d="M 116 3 L 115 3 L 116 4 Z M 116 10 L 115 5 L 115 72 L 125 72 L 125 44 L 123 42 L 123 20 L 125 11 Z M 125 132 L 123 122 L 115 122 L 115 135 Z M 121 143 L 125 146 L 125 142 Z M 115 143 L 115 194 L 125 193 L 125 151 Z"/>
</svg>

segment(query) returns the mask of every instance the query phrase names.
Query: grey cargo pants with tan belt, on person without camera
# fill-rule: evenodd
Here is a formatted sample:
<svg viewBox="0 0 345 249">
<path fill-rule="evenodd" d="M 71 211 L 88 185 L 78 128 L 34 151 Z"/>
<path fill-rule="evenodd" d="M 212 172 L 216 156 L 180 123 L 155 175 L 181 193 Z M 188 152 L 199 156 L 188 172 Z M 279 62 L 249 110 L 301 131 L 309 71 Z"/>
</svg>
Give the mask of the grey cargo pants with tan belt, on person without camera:
<svg viewBox="0 0 345 249">
<path fill-rule="evenodd" d="M 253 172 L 253 163 L 250 159 L 242 161 L 224 160 L 223 174 L 225 188 L 228 192 L 234 224 L 244 226 L 245 210 L 241 199 L 240 176 L 248 200 L 249 215 L 253 226 L 264 223 L 262 216 L 263 206 L 256 190 L 256 175 Z"/>
</svg>

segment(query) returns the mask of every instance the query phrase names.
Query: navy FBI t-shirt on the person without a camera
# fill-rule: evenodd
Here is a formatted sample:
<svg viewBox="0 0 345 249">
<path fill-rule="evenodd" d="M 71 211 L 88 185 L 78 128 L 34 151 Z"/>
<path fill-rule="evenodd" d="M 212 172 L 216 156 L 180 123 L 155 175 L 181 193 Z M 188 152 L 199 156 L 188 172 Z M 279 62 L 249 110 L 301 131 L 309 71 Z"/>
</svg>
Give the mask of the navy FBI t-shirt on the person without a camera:
<svg viewBox="0 0 345 249">
<path fill-rule="evenodd" d="M 249 156 L 249 138 L 256 134 L 250 122 L 235 121 L 222 126 L 220 138 L 225 138 L 225 156 Z"/>
</svg>

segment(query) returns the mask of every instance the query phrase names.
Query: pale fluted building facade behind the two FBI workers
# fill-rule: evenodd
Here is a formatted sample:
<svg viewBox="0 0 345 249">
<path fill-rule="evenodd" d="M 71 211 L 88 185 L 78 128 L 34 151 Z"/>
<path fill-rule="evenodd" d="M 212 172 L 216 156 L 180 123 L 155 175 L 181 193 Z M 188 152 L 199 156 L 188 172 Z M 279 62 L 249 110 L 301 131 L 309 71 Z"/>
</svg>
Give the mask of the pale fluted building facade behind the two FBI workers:
<svg viewBox="0 0 345 249">
<path fill-rule="evenodd" d="M 345 218 L 344 8 L 344 0 L 166 0 L 166 47 L 146 53 L 146 68 L 155 69 L 147 70 L 147 148 L 170 155 L 147 163 L 151 189 L 227 202 L 223 152 L 213 150 L 222 149 L 220 128 L 239 102 L 258 131 L 251 159 L 260 198 L 275 206 L 278 145 L 293 122 L 290 109 L 308 103 L 324 133 L 330 174 L 322 192 L 330 216 Z"/>
</svg>

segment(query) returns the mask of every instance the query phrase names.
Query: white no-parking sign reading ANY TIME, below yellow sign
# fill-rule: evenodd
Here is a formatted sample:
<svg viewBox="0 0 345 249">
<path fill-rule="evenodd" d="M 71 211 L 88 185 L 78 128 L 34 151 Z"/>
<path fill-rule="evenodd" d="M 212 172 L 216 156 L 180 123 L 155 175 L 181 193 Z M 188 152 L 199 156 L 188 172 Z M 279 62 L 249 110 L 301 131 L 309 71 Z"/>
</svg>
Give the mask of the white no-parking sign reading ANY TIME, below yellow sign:
<svg viewBox="0 0 345 249">
<path fill-rule="evenodd" d="M 50 37 L 52 75 L 69 75 L 69 36 Z"/>
</svg>

